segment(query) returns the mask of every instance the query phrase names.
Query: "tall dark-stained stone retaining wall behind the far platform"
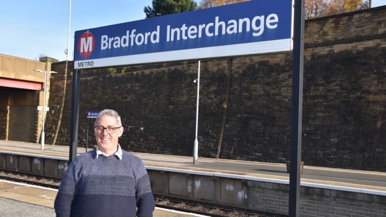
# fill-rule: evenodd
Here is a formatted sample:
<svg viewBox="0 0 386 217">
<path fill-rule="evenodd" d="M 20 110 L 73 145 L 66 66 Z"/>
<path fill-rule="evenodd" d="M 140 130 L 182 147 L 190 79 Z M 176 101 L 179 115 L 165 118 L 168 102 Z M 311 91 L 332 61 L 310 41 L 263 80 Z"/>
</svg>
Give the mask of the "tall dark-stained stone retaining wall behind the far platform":
<svg viewBox="0 0 386 217">
<path fill-rule="evenodd" d="M 385 13 L 376 7 L 306 21 L 306 165 L 386 171 Z M 64 71 L 65 63 L 52 70 Z M 191 156 L 197 67 L 187 61 L 82 70 L 79 146 L 86 144 L 87 111 L 112 108 L 125 127 L 123 148 Z M 53 74 L 46 143 L 69 145 L 73 72 Z M 289 158 L 291 53 L 202 60 L 200 85 L 200 157 Z"/>
</svg>

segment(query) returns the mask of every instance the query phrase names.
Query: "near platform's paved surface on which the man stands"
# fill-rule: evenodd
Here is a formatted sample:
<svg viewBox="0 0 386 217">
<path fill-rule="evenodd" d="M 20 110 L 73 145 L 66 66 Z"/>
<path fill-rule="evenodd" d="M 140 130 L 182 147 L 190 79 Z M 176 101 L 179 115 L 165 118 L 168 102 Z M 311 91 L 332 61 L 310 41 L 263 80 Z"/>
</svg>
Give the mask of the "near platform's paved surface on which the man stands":
<svg viewBox="0 0 386 217">
<path fill-rule="evenodd" d="M 54 201 L 57 190 L 0 180 L 0 216 L 55 216 Z M 203 216 L 180 211 L 155 208 L 154 217 Z"/>
</svg>

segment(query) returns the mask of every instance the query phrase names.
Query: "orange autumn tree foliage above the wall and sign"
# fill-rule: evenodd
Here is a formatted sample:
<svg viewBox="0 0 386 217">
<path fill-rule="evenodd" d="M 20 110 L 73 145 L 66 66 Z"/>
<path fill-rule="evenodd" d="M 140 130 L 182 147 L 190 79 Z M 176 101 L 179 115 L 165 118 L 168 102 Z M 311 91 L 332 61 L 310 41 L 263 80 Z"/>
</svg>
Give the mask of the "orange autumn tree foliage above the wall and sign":
<svg viewBox="0 0 386 217">
<path fill-rule="evenodd" d="M 201 0 L 199 8 L 209 8 L 248 0 Z M 315 18 L 332 14 L 369 8 L 369 0 L 305 0 L 305 18 Z"/>
</svg>

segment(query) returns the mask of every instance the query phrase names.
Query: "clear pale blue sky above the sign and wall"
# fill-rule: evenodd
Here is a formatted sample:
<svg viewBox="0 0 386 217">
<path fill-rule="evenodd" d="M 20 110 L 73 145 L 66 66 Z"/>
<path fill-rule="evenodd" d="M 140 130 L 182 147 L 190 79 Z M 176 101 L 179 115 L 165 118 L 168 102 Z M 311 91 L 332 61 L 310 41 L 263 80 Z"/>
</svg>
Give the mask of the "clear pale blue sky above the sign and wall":
<svg viewBox="0 0 386 217">
<path fill-rule="evenodd" d="M 70 0 L 4 0 L 0 7 L 0 53 L 32 60 L 40 56 L 73 60 L 75 31 L 144 19 L 143 8 L 152 6 L 151 2 L 71 0 L 69 30 Z M 386 5 L 386 0 L 372 0 L 372 7 L 381 5 Z"/>
</svg>

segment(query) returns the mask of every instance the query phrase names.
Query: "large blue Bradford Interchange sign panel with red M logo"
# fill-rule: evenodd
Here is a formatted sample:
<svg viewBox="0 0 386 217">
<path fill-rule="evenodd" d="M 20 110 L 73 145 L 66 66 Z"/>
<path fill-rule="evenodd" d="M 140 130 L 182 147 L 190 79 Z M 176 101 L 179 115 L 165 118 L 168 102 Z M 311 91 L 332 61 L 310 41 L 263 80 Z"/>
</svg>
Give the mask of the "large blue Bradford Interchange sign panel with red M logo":
<svg viewBox="0 0 386 217">
<path fill-rule="evenodd" d="M 251 0 L 75 32 L 74 68 L 292 50 L 293 0 Z"/>
</svg>

